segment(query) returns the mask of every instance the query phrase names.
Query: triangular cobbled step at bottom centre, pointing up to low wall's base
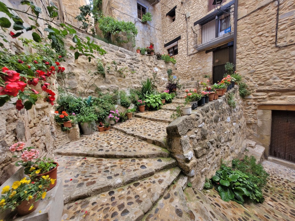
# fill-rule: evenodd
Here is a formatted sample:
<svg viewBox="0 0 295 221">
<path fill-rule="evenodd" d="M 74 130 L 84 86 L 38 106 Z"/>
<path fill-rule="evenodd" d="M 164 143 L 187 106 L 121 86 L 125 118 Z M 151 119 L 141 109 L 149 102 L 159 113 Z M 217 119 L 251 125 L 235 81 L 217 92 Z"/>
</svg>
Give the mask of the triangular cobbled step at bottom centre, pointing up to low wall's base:
<svg viewBox="0 0 295 221">
<path fill-rule="evenodd" d="M 164 196 L 143 217 L 142 221 L 152 220 L 195 220 L 194 213 L 189 210 L 183 193 L 182 180 L 172 184 Z"/>
</svg>

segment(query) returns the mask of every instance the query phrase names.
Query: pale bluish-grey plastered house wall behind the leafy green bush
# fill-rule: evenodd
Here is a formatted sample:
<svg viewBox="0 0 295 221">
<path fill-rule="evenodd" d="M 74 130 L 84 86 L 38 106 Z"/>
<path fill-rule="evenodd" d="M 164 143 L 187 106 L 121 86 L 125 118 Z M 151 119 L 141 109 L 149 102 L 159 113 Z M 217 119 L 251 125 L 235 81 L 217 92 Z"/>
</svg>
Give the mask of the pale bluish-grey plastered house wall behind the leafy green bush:
<svg viewBox="0 0 295 221">
<path fill-rule="evenodd" d="M 141 0 L 138 2 L 145 6 L 148 9 L 147 11 L 153 15 L 153 20 L 147 22 L 147 24 L 143 24 L 141 19 L 137 17 L 137 0 L 104 0 L 103 11 L 105 15 L 112 16 L 119 21 L 123 20 L 125 22 L 135 23 L 135 27 L 138 30 L 136 47 L 147 47 L 153 44 L 155 51 L 160 52 L 162 50 L 161 4 L 158 3 L 151 6 L 151 1 L 148 0 Z M 122 47 L 134 52 L 136 50 L 131 44 L 124 44 Z"/>
</svg>

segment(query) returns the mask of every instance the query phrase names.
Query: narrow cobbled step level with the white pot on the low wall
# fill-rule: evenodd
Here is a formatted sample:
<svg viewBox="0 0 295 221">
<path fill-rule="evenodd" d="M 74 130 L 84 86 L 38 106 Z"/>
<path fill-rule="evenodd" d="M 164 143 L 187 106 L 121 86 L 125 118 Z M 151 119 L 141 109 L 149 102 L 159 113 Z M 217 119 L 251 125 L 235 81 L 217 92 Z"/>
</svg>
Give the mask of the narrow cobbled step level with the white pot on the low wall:
<svg viewBox="0 0 295 221">
<path fill-rule="evenodd" d="M 165 105 L 164 105 L 165 106 Z M 134 116 L 142 119 L 147 119 L 150 121 L 157 121 L 163 123 L 171 123 L 173 119 L 171 119 L 171 114 L 173 111 L 171 110 L 155 110 L 155 111 L 145 111 L 142 113 L 136 113 Z"/>
</svg>

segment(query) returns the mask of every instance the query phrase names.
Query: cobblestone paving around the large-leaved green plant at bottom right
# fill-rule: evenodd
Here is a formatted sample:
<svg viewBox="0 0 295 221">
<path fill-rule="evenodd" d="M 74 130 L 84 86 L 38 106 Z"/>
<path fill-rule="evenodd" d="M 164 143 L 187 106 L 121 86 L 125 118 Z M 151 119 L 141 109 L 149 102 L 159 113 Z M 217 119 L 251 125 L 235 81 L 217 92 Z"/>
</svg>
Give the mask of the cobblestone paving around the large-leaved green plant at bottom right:
<svg viewBox="0 0 295 221">
<path fill-rule="evenodd" d="M 261 204 L 224 202 L 218 192 L 211 189 L 204 191 L 211 200 L 214 210 L 219 210 L 229 220 L 295 220 L 295 170 L 269 161 L 262 165 L 270 174 L 268 183 L 263 190 L 265 201 Z"/>
</svg>

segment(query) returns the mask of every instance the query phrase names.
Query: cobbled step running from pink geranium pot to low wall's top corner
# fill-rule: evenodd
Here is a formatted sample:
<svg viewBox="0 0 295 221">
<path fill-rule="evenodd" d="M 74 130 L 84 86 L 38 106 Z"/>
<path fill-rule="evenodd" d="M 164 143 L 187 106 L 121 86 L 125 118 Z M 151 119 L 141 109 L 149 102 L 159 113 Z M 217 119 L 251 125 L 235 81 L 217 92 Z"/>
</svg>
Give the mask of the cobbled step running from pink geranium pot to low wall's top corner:
<svg viewBox="0 0 295 221">
<path fill-rule="evenodd" d="M 129 121 L 117 123 L 112 128 L 134 136 L 150 144 L 166 147 L 166 126 L 168 123 L 145 120 L 142 118 L 132 118 Z"/>
</svg>

